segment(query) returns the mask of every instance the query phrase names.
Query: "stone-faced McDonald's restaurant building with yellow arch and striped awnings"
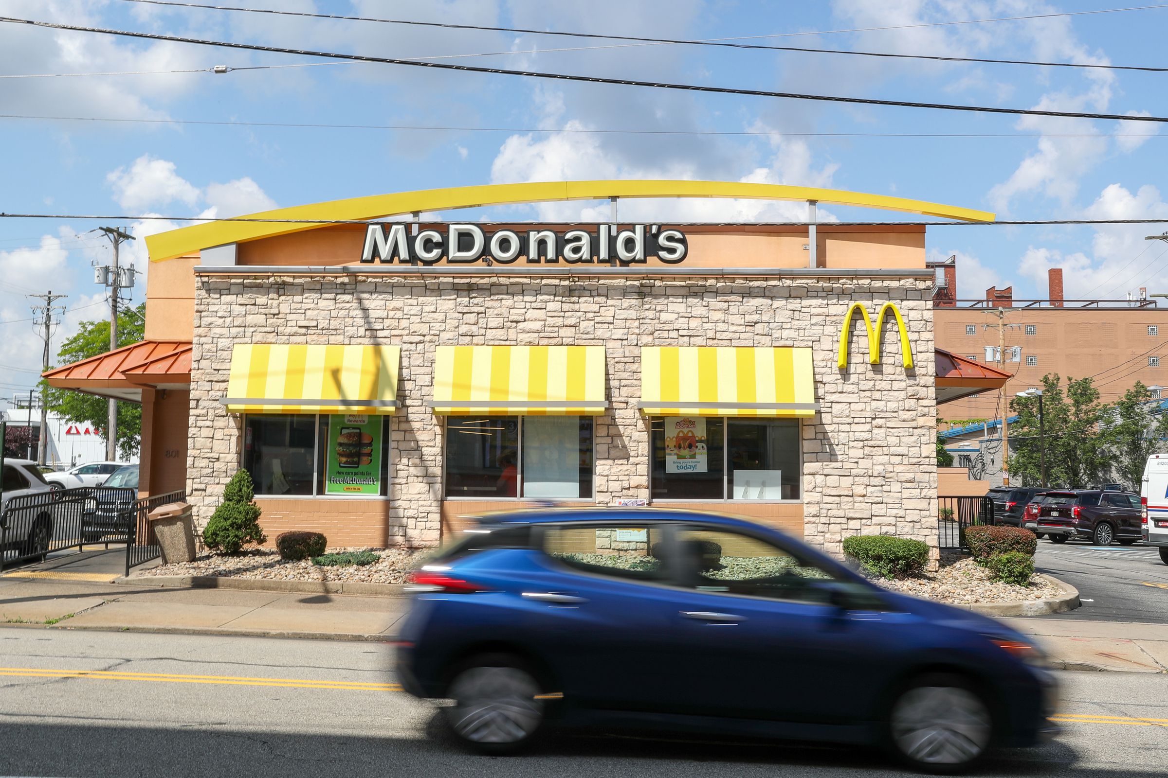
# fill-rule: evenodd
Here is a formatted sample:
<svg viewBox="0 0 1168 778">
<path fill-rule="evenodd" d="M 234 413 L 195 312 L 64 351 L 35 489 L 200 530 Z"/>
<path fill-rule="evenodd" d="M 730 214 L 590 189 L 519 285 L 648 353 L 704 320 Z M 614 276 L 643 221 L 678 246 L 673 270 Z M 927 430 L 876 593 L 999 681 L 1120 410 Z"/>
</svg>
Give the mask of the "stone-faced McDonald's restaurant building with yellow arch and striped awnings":
<svg viewBox="0 0 1168 778">
<path fill-rule="evenodd" d="M 923 225 L 410 217 L 718 196 L 992 218 L 717 182 L 283 209 L 147 238 L 145 339 L 47 378 L 141 402 L 141 489 L 185 489 L 200 523 L 248 469 L 269 538 L 431 546 L 465 514 L 551 502 L 725 511 L 836 553 L 860 533 L 936 547 L 936 406 L 985 376 L 938 378 Z"/>
</svg>

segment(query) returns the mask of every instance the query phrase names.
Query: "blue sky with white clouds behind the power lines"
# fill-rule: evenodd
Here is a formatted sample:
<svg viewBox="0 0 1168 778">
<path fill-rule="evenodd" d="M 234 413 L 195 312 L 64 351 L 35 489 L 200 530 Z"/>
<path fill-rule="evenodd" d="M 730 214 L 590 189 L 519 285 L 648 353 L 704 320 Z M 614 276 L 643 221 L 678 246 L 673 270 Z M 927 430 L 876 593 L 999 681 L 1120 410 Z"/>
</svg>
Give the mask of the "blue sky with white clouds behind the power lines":
<svg viewBox="0 0 1168 778">
<path fill-rule="evenodd" d="M 1160 54 L 1168 8 L 936 26 L 1129 5 L 1107 0 L 248 0 L 232 5 L 653 37 L 783 34 L 759 42 L 905 54 L 1168 64 Z M 124 0 L 0 0 L 0 15 L 292 48 L 406 58 L 481 55 L 446 61 L 936 103 L 1162 115 L 1168 91 L 1168 73 L 708 47 L 619 47 L 613 41 L 165 8 Z M 891 26 L 899 28 L 830 31 Z M 0 75 L 5 76 L 315 62 L 320 61 L 0 24 Z M 377 64 L 227 75 L 0 78 L 0 113 L 431 127 L 385 131 L 0 118 L 0 211 L 7 212 L 230 216 L 431 187 L 677 177 L 895 194 L 987 209 L 1000 218 L 1168 219 L 1161 181 L 1168 141 L 1154 135 L 1157 125 L 1147 122 L 694 94 Z M 815 134 L 596 132 L 602 129 Z M 589 218 L 606 209 L 606 204 L 559 203 L 475 209 L 458 218 Z M 821 211 L 840 219 L 890 217 L 847 208 Z M 792 220 L 805 216 L 805 206 L 651 201 L 623 204 L 621 216 Z M 92 282 L 90 264 L 107 261 L 109 244 L 85 233 L 98 224 L 0 220 L 0 397 L 33 385 L 39 370 L 41 342 L 32 322 L 21 321 L 32 316 L 28 293 L 51 288 L 69 295 L 64 304 L 70 310 L 57 329 L 54 353 L 79 321 L 103 316 L 103 296 Z M 130 223 L 139 236 L 167 226 Z M 931 227 L 929 251 L 941 259 L 958 254 L 958 287 L 964 297 L 1010 283 L 1015 297 L 1045 296 L 1049 267 L 1065 268 L 1068 296 L 1122 297 L 1140 286 L 1168 292 L 1168 255 L 1160 259 L 1164 246 L 1143 240 L 1160 231 L 1155 226 Z M 146 271 L 144 250 L 137 241 L 128 253 Z M 135 301 L 144 289 L 139 281 Z"/>
</svg>

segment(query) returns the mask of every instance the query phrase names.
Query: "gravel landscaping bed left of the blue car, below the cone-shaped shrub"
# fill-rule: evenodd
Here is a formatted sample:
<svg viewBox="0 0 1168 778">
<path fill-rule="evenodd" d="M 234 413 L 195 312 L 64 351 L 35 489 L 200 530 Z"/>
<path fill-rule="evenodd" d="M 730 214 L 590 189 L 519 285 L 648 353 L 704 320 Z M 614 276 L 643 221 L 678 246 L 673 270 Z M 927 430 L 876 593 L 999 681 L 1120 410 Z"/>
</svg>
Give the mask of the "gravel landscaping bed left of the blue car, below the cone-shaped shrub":
<svg viewBox="0 0 1168 778">
<path fill-rule="evenodd" d="M 362 552 L 364 548 L 331 549 Z M 420 565 L 429 552 L 391 548 L 373 551 L 380 559 L 370 565 L 326 567 L 311 560 L 280 559 L 274 551 L 253 551 L 245 554 L 201 554 L 194 562 L 159 565 L 139 569 L 131 577 L 157 575 L 206 575 L 260 581 L 348 581 L 361 583 L 403 583 L 410 570 Z"/>
</svg>

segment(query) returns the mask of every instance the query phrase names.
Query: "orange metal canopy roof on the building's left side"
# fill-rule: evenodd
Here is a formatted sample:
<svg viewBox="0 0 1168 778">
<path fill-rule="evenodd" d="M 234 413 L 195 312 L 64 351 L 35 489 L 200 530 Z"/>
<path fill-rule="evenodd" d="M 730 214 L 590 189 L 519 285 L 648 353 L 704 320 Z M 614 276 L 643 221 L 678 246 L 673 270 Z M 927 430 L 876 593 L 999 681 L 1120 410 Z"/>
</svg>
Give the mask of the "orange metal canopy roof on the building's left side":
<svg viewBox="0 0 1168 778">
<path fill-rule="evenodd" d="M 49 386 L 141 401 L 142 387 L 190 384 L 190 341 L 141 341 L 43 373 Z"/>
</svg>

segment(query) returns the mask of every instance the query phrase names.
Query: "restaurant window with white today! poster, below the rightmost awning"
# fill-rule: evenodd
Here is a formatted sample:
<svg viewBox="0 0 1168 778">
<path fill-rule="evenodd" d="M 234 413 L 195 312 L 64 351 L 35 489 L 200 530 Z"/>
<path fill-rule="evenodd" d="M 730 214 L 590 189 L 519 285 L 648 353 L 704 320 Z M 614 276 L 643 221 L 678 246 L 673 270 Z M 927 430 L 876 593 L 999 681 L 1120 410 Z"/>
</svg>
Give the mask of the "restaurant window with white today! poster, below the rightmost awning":
<svg viewBox="0 0 1168 778">
<path fill-rule="evenodd" d="M 658 416 L 649 427 L 654 499 L 801 497 L 795 420 Z"/>
</svg>

